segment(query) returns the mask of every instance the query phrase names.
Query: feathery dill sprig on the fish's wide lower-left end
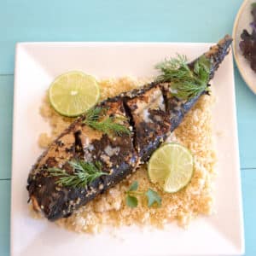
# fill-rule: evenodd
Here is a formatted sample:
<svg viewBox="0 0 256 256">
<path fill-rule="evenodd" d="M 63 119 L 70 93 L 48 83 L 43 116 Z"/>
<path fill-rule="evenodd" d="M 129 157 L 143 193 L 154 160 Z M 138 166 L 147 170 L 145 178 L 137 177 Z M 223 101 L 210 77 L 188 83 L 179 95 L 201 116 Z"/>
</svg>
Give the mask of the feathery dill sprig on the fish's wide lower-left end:
<svg viewBox="0 0 256 256">
<path fill-rule="evenodd" d="M 68 163 L 73 167 L 73 173 L 68 173 L 56 167 L 48 169 L 51 176 L 60 177 L 55 181 L 56 184 L 64 187 L 84 188 L 97 177 L 108 175 L 108 173 L 102 172 L 102 164 L 99 161 L 91 163 L 77 160 L 69 161 Z"/>
</svg>

